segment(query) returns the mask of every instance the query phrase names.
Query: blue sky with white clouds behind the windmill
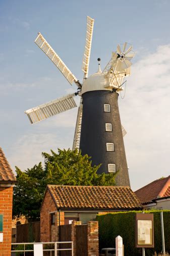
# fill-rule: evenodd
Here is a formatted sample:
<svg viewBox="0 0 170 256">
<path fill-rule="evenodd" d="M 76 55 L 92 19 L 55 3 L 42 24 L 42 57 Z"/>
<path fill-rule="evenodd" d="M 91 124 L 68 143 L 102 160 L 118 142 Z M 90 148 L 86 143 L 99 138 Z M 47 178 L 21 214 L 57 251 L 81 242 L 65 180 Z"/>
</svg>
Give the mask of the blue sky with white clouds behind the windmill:
<svg viewBox="0 0 170 256">
<path fill-rule="evenodd" d="M 31 125 L 24 111 L 76 91 L 34 43 L 45 37 L 73 74 L 81 71 L 86 16 L 94 22 L 89 75 L 118 43 L 133 44 L 131 76 L 119 96 L 131 188 L 170 175 L 170 1 L 0 0 L 0 146 L 13 170 L 41 152 L 72 148 L 77 108 Z M 79 103 L 79 98 L 76 98 Z"/>
</svg>

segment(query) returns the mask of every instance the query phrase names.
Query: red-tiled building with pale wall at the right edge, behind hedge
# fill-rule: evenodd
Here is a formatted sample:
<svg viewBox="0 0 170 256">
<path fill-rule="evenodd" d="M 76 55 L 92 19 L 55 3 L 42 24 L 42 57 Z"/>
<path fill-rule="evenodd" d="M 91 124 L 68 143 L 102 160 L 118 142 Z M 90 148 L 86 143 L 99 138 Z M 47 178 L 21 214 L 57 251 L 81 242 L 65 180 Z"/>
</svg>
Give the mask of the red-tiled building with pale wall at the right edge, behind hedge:
<svg viewBox="0 0 170 256">
<path fill-rule="evenodd" d="M 144 209 L 170 210 L 170 176 L 152 181 L 135 194 Z"/>
</svg>

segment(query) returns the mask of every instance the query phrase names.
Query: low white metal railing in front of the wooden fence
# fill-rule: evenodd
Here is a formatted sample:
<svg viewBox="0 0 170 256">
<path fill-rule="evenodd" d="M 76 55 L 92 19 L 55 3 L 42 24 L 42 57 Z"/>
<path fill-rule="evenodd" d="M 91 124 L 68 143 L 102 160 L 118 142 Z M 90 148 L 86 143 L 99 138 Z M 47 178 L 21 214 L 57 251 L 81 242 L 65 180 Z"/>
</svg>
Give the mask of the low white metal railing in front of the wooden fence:
<svg viewBox="0 0 170 256">
<path fill-rule="evenodd" d="M 71 248 L 66 248 L 66 249 L 60 249 L 58 248 L 58 244 L 65 244 L 65 243 L 71 243 Z M 71 250 L 72 251 L 72 256 L 73 256 L 73 242 L 72 241 L 69 241 L 69 242 L 39 242 L 39 243 L 12 243 L 11 245 L 23 245 L 24 246 L 24 249 L 23 250 L 11 250 L 11 252 L 24 252 L 24 256 L 25 256 L 25 252 L 27 251 L 34 251 L 33 249 L 32 250 L 27 250 L 25 248 L 25 245 L 28 245 L 28 244 L 53 244 L 54 245 L 54 248 L 53 249 L 43 249 L 43 251 L 50 251 L 50 256 L 52 255 L 52 251 L 54 251 L 54 256 L 57 256 L 58 255 L 58 251 L 61 251 L 61 250 Z"/>
</svg>

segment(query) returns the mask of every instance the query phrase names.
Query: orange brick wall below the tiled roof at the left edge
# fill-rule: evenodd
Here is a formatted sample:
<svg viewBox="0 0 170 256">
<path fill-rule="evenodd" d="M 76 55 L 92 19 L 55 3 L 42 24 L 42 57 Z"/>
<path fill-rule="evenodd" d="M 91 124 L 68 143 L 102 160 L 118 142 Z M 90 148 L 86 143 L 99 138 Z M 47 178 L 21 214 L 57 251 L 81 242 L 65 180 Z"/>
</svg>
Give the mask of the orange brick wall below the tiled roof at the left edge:
<svg viewBox="0 0 170 256">
<path fill-rule="evenodd" d="M 0 214 L 3 220 L 3 242 L 0 242 L 0 256 L 11 256 L 13 187 L 0 187 Z"/>
</svg>

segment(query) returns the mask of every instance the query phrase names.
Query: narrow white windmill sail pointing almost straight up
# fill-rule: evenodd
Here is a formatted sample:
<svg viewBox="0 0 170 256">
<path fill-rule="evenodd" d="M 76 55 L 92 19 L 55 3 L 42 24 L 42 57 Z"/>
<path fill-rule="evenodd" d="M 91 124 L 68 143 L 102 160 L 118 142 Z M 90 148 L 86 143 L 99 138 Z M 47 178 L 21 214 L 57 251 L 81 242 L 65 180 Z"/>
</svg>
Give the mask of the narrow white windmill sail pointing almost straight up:
<svg viewBox="0 0 170 256">
<path fill-rule="evenodd" d="M 85 44 L 83 63 L 82 63 L 82 71 L 84 71 L 85 77 L 88 76 L 93 26 L 94 26 L 94 20 L 87 16 L 86 44 Z"/>
</svg>

